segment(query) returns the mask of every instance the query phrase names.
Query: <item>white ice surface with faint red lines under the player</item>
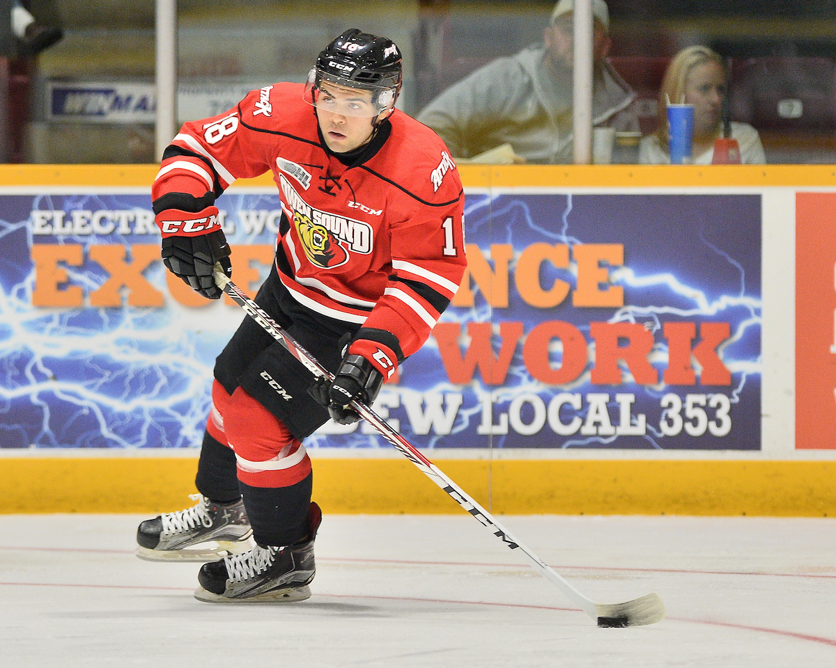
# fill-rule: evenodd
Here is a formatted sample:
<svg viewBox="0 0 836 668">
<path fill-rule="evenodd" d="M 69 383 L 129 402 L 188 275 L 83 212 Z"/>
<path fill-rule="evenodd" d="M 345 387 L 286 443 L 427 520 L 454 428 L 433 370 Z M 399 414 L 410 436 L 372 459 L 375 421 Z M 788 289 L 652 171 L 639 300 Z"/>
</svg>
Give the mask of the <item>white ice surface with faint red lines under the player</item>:
<svg viewBox="0 0 836 668">
<path fill-rule="evenodd" d="M 184 502 L 187 500 L 184 499 Z M 657 591 L 599 629 L 466 514 L 326 515 L 314 595 L 194 600 L 199 564 L 133 554 L 138 515 L 0 515 L 0 665 L 836 665 L 836 520 L 502 517 L 584 595 Z"/>
</svg>

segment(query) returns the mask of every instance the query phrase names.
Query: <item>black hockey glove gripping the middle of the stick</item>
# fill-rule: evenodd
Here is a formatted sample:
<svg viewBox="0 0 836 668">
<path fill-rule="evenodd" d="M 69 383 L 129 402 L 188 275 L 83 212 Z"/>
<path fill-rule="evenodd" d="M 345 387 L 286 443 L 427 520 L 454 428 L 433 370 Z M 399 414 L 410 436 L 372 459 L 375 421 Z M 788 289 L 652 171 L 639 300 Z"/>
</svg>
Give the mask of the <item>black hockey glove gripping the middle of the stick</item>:
<svg viewBox="0 0 836 668">
<path fill-rule="evenodd" d="M 328 408 L 335 423 L 354 424 L 360 417 L 348 404 L 356 399 L 366 406 L 370 405 L 380 392 L 381 385 L 383 375 L 375 366 L 365 357 L 349 353 L 340 362 L 334 381 L 319 377 L 308 392 Z"/>
</svg>

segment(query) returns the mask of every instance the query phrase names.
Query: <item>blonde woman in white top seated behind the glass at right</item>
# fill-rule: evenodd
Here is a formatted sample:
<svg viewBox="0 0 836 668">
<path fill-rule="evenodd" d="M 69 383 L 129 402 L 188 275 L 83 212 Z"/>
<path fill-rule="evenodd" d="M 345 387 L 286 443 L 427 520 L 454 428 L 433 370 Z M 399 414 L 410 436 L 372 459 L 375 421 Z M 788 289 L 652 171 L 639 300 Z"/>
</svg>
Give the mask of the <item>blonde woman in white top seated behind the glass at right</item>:
<svg viewBox="0 0 836 668">
<path fill-rule="evenodd" d="M 711 164 L 714 142 L 722 136 L 722 105 L 726 98 L 726 64 L 707 47 L 685 48 L 670 61 L 659 93 L 659 128 L 641 140 L 639 162 L 670 164 L 668 154 L 667 101 L 694 105 L 693 164 Z M 746 123 L 732 122 L 732 139 L 740 145 L 743 164 L 765 164 L 757 130 Z"/>
</svg>

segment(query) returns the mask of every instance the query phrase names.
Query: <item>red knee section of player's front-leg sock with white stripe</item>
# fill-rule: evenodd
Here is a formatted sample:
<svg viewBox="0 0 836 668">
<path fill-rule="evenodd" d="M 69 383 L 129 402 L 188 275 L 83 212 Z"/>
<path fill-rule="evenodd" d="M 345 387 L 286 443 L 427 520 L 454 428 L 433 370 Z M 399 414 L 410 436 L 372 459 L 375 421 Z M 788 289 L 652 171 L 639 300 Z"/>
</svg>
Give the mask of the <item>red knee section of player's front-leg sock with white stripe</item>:
<svg viewBox="0 0 836 668">
<path fill-rule="evenodd" d="M 311 460 L 302 442 L 243 387 L 232 392 L 224 428 L 242 483 L 253 488 L 290 487 L 310 474 Z"/>
</svg>

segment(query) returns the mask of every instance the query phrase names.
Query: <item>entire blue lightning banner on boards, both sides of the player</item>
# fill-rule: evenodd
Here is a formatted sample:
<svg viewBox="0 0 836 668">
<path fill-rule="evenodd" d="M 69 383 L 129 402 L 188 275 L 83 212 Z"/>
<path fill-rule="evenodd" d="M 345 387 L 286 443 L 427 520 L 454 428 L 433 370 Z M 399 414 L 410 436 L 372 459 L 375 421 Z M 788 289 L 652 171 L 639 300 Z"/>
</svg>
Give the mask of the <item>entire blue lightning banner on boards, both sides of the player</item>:
<svg viewBox="0 0 836 668">
<path fill-rule="evenodd" d="M 233 280 L 275 191 L 218 200 Z M 421 448 L 757 450 L 761 195 L 469 191 L 468 273 L 375 410 Z M 199 447 L 243 313 L 171 276 L 146 190 L 0 195 L 0 447 Z M 364 425 L 308 448 L 388 448 Z"/>
</svg>

